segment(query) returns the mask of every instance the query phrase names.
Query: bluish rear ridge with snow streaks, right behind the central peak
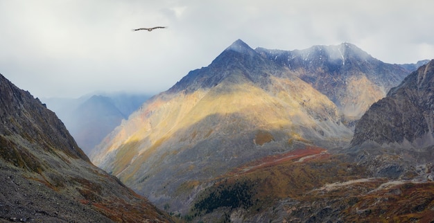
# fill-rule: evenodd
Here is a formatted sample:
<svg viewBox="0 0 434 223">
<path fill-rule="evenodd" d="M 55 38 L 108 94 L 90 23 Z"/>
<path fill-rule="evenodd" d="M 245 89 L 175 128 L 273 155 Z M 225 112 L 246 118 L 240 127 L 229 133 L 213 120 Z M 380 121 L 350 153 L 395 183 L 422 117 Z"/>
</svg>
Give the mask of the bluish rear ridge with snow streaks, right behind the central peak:
<svg viewBox="0 0 434 223">
<path fill-rule="evenodd" d="M 349 43 L 295 51 L 265 48 L 256 51 L 268 60 L 288 67 L 324 93 L 348 121 L 361 118 L 372 103 L 383 98 L 410 73 L 397 64 L 376 60 Z"/>
</svg>

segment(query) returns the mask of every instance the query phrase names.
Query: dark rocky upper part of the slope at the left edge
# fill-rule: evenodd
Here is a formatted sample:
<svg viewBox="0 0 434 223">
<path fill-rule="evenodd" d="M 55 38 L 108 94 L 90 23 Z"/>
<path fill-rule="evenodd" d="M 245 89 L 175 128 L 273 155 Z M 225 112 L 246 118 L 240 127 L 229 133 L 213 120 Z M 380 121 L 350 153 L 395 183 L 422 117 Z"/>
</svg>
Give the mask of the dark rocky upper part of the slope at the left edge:
<svg viewBox="0 0 434 223">
<path fill-rule="evenodd" d="M 60 150 L 69 157 L 89 162 L 85 153 L 69 135 L 62 121 L 46 109 L 39 99 L 34 99 L 28 91 L 15 87 L 9 80 L 0 76 L 0 134 L 21 136 L 33 144 L 41 143 L 47 152 Z"/>
</svg>

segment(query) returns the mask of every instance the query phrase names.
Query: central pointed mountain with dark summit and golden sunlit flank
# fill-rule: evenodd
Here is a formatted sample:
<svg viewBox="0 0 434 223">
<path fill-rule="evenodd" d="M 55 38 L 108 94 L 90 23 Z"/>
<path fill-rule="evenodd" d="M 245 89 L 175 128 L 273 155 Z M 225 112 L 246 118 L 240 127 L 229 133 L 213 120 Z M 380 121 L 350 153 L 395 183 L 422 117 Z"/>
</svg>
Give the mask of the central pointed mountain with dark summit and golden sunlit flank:
<svg viewBox="0 0 434 223">
<path fill-rule="evenodd" d="M 99 145 L 92 161 L 169 211 L 243 163 L 351 139 L 336 106 L 241 40 L 151 98 Z"/>
</svg>

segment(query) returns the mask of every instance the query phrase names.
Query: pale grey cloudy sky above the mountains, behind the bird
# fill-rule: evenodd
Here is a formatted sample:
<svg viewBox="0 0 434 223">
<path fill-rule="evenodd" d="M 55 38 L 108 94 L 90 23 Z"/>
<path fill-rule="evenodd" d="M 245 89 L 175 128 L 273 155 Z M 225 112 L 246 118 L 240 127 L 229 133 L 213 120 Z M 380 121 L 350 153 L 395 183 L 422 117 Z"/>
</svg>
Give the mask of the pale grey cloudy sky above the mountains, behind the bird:
<svg viewBox="0 0 434 223">
<path fill-rule="evenodd" d="M 0 0 L 0 73 L 33 96 L 165 91 L 236 39 L 350 42 L 388 63 L 434 58 L 434 1 Z M 153 32 L 132 28 L 168 26 Z"/>
</svg>

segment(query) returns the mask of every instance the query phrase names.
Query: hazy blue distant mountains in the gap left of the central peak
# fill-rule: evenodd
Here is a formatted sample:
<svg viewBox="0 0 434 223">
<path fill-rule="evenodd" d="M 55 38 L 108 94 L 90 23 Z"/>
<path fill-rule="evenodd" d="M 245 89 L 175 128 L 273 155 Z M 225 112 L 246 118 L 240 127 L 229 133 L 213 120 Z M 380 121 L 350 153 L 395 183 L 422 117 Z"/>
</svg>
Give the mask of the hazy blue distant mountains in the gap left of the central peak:
<svg viewBox="0 0 434 223">
<path fill-rule="evenodd" d="M 86 154 L 127 119 L 150 96 L 133 93 L 97 93 L 80 98 L 43 98 Z"/>
</svg>

